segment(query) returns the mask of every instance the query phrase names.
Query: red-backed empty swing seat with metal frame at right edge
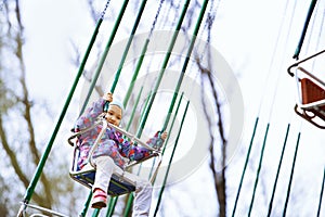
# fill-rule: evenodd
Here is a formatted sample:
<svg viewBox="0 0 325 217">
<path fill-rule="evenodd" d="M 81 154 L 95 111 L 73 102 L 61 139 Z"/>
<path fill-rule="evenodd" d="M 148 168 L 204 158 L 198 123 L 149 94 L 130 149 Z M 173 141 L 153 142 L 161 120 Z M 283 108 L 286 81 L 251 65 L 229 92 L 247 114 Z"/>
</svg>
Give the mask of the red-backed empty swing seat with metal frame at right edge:
<svg viewBox="0 0 325 217">
<path fill-rule="evenodd" d="M 325 87 L 315 76 L 302 67 L 298 69 L 309 77 L 297 78 L 300 82 L 300 102 L 296 104 L 295 112 L 313 124 L 325 129 Z"/>
</svg>

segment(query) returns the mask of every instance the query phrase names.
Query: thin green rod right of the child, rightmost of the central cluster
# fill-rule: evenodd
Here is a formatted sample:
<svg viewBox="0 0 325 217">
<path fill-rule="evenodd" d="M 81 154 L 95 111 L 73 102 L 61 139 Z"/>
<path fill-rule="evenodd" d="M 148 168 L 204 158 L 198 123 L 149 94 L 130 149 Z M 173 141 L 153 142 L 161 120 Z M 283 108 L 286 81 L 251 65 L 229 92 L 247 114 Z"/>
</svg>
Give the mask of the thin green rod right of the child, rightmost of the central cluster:
<svg viewBox="0 0 325 217">
<path fill-rule="evenodd" d="M 187 114 L 188 104 L 190 104 L 190 101 L 187 101 L 187 103 L 186 103 L 186 107 L 185 107 L 185 111 L 184 111 L 184 114 L 183 114 L 183 117 L 182 117 L 182 122 L 181 122 L 181 126 L 180 126 L 180 129 L 179 129 L 179 132 L 178 132 L 178 137 L 177 137 L 177 140 L 174 142 L 174 145 L 173 145 L 170 158 L 169 158 L 168 167 L 167 167 L 167 170 L 166 170 L 166 174 L 165 174 L 165 177 L 164 177 L 162 186 L 161 186 L 160 191 L 159 191 L 158 201 L 157 201 L 157 204 L 156 204 L 154 216 L 157 215 L 158 209 L 159 209 L 159 205 L 161 203 L 162 193 L 165 191 L 165 187 L 166 187 L 167 178 L 168 178 L 169 170 L 170 170 L 170 167 L 171 167 L 171 163 L 172 163 L 172 159 L 173 159 L 173 156 L 174 156 L 174 152 L 176 152 L 177 145 L 179 143 L 179 139 L 180 139 L 180 135 L 181 135 L 181 131 L 182 131 L 182 128 L 183 128 L 184 119 L 185 119 L 185 116 Z"/>
</svg>

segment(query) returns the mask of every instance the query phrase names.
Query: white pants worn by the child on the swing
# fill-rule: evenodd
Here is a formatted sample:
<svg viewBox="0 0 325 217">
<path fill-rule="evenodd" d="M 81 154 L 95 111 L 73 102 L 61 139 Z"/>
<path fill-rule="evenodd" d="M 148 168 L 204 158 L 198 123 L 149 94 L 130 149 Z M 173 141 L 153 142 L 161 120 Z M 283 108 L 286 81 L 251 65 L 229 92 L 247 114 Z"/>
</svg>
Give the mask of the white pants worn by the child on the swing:
<svg viewBox="0 0 325 217">
<path fill-rule="evenodd" d="M 93 190 L 100 188 L 107 192 L 112 174 L 116 170 L 122 171 L 112 157 L 99 156 L 93 158 L 93 163 L 96 166 L 96 175 L 93 184 Z M 136 175 L 125 171 L 126 176 L 135 181 L 135 195 L 132 216 L 146 217 L 150 214 L 152 204 L 152 184 L 148 180 L 144 180 Z"/>
</svg>

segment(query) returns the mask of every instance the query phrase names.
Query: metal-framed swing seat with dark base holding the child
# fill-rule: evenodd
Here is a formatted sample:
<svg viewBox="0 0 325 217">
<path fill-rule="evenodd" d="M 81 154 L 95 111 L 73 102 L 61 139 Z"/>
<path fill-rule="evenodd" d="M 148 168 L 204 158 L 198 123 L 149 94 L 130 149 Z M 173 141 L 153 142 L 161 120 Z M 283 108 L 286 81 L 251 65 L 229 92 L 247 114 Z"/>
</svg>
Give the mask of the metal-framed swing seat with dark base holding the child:
<svg viewBox="0 0 325 217">
<path fill-rule="evenodd" d="M 126 137 L 128 138 L 132 138 L 134 141 L 136 141 L 138 143 L 140 143 L 141 145 L 150 149 L 153 151 L 153 153 L 145 157 L 144 159 L 142 161 L 138 161 L 138 162 L 133 162 L 131 164 L 129 164 L 127 166 L 127 168 L 131 167 L 131 166 L 134 166 L 139 163 L 142 163 L 146 159 L 150 159 L 152 157 L 155 157 L 155 156 L 159 156 L 160 157 L 160 152 L 152 149 L 151 146 L 146 145 L 144 142 L 142 142 L 140 139 L 138 138 L 134 138 L 132 135 L 130 135 L 129 132 L 125 131 L 123 129 L 120 129 L 116 126 L 112 126 L 109 125 L 105 119 L 102 119 L 101 122 L 96 123 L 94 126 L 88 128 L 88 129 L 84 129 L 82 131 L 79 131 L 79 132 L 76 132 L 75 135 L 73 135 L 69 139 L 68 139 L 68 143 L 70 145 L 74 146 L 74 157 L 73 157 L 73 164 L 72 164 L 72 168 L 70 168 L 70 171 L 69 171 L 69 175 L 72 177 L 72 179 L 74 179 L 75 181 L 92 189 L 92 186 L 94 183 L 94 178 L 95 178 L 95 168 L 94 166 L 90 163 L 88 163 L 87 165 L 84 165 L 82 167 L 82 169 L 80 169 L 79 165 L 78 165 L 78 158 L 79 158 L 79 155 L 80 155 L 80 151 L 79 151 L 79 146 L 78 146 L 78 142 L 77 141 L 73 141 L 73 139 L 76 139 L 77 136 L 92 129 L 93 127 L 95 127 L 96 125 L 100 125 L 102 124 L 103 127 L 102 127 L 102 130 L 101 132 L 99 133 L 98 138 L 96 138 L 96 141 L 94 142 L 93 144 L 93 148 L 91 149 L 90 151 L 90 156 L 92 155 L 94 149 L 96 148 L 98 145 L 98 142 L 101 140 L 103 133 L 106 131 L 106 128 L 109 126 L 109 127 L 114 127 L 116 130 L 120 131 L 121 133 L 123 133 Z M 90 159 L 91 157 L 89 157 Z M 158 169 L 158 167 L 156 168 L 156 170 Z M 114 171 L 112 177 L 110 177 L 110 181 L 109 181 L 109 186 L 108 186 L 108 190 L 107 190 L 107 194 L 110 195 L 110 196 L 118 196 L 118 195 L 122 195 L 122 194 L 127 194 L 127 193 L 131 193 L 135 191 L 135 181 L 132 180 L 130 177 L 128 177 L 128 174 L 125 174 L 122 171 Z"/>
</svg>

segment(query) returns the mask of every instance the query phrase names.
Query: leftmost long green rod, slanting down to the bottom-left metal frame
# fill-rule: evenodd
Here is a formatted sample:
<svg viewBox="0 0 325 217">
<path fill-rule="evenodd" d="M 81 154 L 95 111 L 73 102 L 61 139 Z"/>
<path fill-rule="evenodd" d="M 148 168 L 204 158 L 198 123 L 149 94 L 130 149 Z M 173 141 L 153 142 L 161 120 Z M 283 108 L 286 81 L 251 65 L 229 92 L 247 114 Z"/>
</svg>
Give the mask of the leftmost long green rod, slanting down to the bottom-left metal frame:
<svg viewBox="0 0 325 217">
<path fill-rule="evenodd" d="M 93 46 L 93 43 L 94 43 L 94 41 L 95 41 L 95 38 L 96 38 L 96 36 L 98 36 L 98 33 L 99 33 L 99 29 L 100 29 L 100 26 L 101 26 L 102 22 L 103 22 L 103 16 L 101 16 L 101 18 L 98 21 L 98 24 L 96 24 L 96 26 L 95 26 L 95 29 L 94 29 L 93 35 L 92 35 L 92 37 L 91 37 L 90 43 L 89 43 L 89 46 L 88 46 L 88 48 L 87 48 L 87 51 L 86 51 L 86 53 L 84 53 L 84 56 L 83 56 L 83 59 L 82 59 L 81 65 L 80 65 L 80 67 L 79 67 L 79 71 L 78 71 L 77 76 L 76 76 L 76 78 L 75 78 L 75 81 L 74 81 L 74 84 L 73 84 L 73 87 L 72 87 L 72 89 L 70 89 L 70 91 L 69 91 L 69 93 L 68 93 L 68 97 L 67 97 L 67 99 L 66 99 L 66 101 L 65 101 L 65 104 L 64 104 L 64 106 L 63 106 L 63 110 L 62 110 L 62 112 L 61 112 L 61 114 L 60 114 L 58 120 L 57 120 L 57 123 L 56 123 L 56 125 L 55 125 L 55 128 L 54 128 L 54 131 L 53 131 L 53 133 L 52 133 L 52 137 L 51 137 L 51 139 L 50 139 L 50 141 L 49 141 L 49 143 L 48 143 L 48 145 L 47 145 L 47 149 L 46 149 L 44 153 L 42 154 L 42 157 L 41 157 L 41 159 L 40 159 L 40 162 L 39 162 L 39 164 L 38 164 L 38 166 L 37 166 L 36 173 L 35 173 L 35 175 L 34 175 L 34 177 L 32 177 L 32 179 L 31 179 L 31 181 L 30 181 L 30 183 L 29 183 L 29 186 L 28 186 L 28 188 L 27 188 L 27 190 L 26 190 L 26 194 L 25 194 L 25 196 L 24 196 L 24 203 L 28 203 L 28 202 L 30 201 L 30 199 L 31 199 L 31 195 L 32 195 L 32 193 L 34 193 L 34 190 L 35 190 L 35 188 L 36 188 L 36 184 L 37 184 L 37 182 L 38 182 L 38 180 L 39 180 L 39 178 L 40 178 L 40 175 L 41 175 L 41 173 L 42 173 L 42 169 L 43 169 L 43 167 L 44 167 L 44 164 L 46 164 L 46 162 L 47 162 L 47 159 L 48 159 L 48 156 L 49 156 L 49 154 L 50 154 L 50 152 L 51 152 L 51 149 L 52 149 L 52 146 L 53 146 L 53 142 L 54 142 L 54 140 L 55 140 L 55 137 L 56 137 L 56 135 L 57 135 L 57 131 L 58 131 L 58 129 L 60 129 L 60 126 L 61 126 L 61 124 L 62 124 L 62 122 L 63 122 L 63 118 L 64 118 L 64 116 L 65 116 L 65 114 L 66 114 L 66 111 L 67 111 L 67 108 L 68 108 L 68 105 L 69 105 L 69 103 L 70 103 L 70 101 L 72 101 L 72 98 L 73 98 L 73 95 L 74 95 L 74 92 L 75 92 L 75 90 L 76 90 L 76 88 L 77 88 L 77 85 L 78 85 L 78 82 L 79 82 L 79 78 L 80 78 L 81 75 L 82 75 L 82 72 L 83 72 L 86 62 L 87 62 L 87 60 L 88 60 L 89 53 L 90 53 L 90 51 L 91 51 L 91 49 L 92 49 L 92 46 Z"/>
</svg>

